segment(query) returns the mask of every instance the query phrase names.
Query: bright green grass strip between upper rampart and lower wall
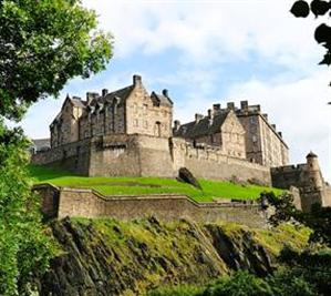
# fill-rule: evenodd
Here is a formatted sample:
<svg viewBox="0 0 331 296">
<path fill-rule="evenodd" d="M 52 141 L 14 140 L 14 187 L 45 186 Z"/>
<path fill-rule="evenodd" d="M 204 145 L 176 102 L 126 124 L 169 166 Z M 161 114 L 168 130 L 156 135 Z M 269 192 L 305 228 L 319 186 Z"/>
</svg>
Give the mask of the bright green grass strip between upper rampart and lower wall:
<svg viewBox="0 0 331 296">
<path fill-rule="evenodd" d="M 58 186 L 93 188 L 104 195 L 134 195 L 176 193 L 186 194 L 197 202 L 211 202 L 215 198 L 256 200 L 262 191 L 281 191 L 256 185 L 240 185 L 230 182 L 199 180 L 203 190 L 162 177 L 84 177 L 69 172 L 39 165 L 30 165 L 34 184 L 51 183 Z"/>
</svg>

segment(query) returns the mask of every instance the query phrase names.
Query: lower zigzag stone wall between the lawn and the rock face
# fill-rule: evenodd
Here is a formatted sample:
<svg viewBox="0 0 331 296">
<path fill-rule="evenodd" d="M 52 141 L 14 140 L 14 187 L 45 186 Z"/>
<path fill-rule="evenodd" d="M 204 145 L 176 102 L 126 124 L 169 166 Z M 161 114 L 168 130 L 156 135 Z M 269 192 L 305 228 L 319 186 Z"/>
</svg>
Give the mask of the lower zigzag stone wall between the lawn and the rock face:
<svg viewBox="0 0 331 296">
<path fill-rule="evenodd" d="M 53 196 L 49 195 L 50 192 L 54 190 L 59 192 L 58 218 L 81 216 L 134 220 L 154 215 L 164 221 L 184 217 L 201 223 L 227 221 L 251 227 L 266 227 L 267 225 L 267 213 L 260 211 L 258 204 L 196 203 L 185 195 L 170 194 L 103 196 L 91 190 L 43 188 L 49 186 L 40 185 L 35 190 L 46 200 Z M 46 213 L 50 213 L 49 207 Z"/>
</svg>

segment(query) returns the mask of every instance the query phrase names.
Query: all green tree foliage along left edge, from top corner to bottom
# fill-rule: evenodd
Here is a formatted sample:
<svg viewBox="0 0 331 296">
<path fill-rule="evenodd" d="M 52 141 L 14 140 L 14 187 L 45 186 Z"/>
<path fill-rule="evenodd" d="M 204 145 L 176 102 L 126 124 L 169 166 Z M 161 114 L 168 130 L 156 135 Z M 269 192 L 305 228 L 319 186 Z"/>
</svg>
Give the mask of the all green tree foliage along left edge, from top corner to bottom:
<svg viewBox="0 0 331 296">
<path fill-rule="evenodd" d="M 19 121 L 71 78 L 104 69 L 112 37 L 80 0 L 0 0 L 0 295 L 28 295 L 52 251 L 31 193 L 29 142 L 3 118 Z"/>
</svg>

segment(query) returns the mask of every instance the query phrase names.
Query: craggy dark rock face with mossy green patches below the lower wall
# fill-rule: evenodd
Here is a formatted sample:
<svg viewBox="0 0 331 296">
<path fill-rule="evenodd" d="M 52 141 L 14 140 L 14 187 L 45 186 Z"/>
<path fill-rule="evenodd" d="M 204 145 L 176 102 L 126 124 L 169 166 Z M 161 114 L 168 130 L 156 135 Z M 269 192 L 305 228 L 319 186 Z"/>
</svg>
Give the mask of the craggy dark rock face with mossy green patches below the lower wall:
<svg viewBox="0 0 331 296">
<path fill-rule="evenodd" d="M 62 248 L 39 280 L 52 296 L 143 295 L 158 285 L 206 283 L 239 268 L 272 271 L 273 255 L 244 226 L 69 220 L 51 225 Z"/>
</svg>

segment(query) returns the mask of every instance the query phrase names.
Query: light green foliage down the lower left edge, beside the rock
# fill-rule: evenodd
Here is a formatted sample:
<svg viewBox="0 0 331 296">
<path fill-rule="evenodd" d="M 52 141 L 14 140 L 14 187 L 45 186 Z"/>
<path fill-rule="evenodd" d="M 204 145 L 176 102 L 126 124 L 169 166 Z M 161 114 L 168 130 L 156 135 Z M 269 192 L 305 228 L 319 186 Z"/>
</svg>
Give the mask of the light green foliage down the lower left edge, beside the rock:
<svg viewBox="0 0 331 296">
<path fill-rule="evenodd" d="M 0 295 L 24 295 L 31 274 L 45 271 L 51 244 L 31 194 L 22 130 L 0 121 Z"/>
</svg>

